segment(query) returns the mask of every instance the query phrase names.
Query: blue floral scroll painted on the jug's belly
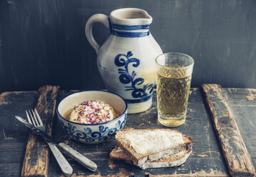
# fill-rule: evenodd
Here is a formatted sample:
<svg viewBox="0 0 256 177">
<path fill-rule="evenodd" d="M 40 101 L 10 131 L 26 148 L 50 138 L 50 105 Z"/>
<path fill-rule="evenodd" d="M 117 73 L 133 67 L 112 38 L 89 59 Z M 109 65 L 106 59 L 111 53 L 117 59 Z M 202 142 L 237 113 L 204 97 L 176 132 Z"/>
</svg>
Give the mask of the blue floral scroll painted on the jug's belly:
<svg viewBox="0 0 256 177">
<path fill-rule="evenodd" d="M 136 58 L 131 58 L 133 53 L 128 51 L 127 54 L 118 54 L 115 56 L 115 65 L 118 67 L 123 66 L 123 69 L 118 69 L 119 81 L 122 84 L 131 84 L 130 86 L 125 86 L 125 91 L 132 91 L 131 96 L 133 98 L 140 98 L 139 100 L 129 100 L 126 99 L 128 103 L 139 103 L 147 101 L 152 96 L 153 88 L 155 84 L 145 84 L 143 88 L 138 88 L 144 83 L 143 78 L 136 78 L 136 72 L 132 71 L 131 74 L 128 71 L 128 64 L 133 63 L 133 67 L 138 67 L 140 65 L 140 60 Z"/>
</svg>

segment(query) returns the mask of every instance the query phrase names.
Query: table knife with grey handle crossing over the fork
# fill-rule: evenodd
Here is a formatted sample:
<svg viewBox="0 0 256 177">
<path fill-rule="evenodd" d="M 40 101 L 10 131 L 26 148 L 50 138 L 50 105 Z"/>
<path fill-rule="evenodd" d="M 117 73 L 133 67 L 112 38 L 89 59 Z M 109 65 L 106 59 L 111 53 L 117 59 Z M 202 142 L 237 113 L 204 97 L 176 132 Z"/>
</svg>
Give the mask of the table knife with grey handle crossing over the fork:
<svg viewBox="0 0 256 177">
<path fill-rule="evenodd" d="M 97 165 L 90 159 L 83 156 L 81 153 L 75 151 L 75 149 L 71 148 L 70 146 L 67 146 L 65 143 L 58 143 L 52 136 L 49 136 L 47 133 L 40 131 L 37 127 L 33 126 L 31 123 L 28 123 L 24 118 L 20 116 L 15 116 L 16 119 L 18 119 L 24 126 L 27 126 L 30 128 L 35 134 L 42 136 L 44 139 L 46 139 L 49 142 L 54 143 L 55 145 L 62 148 L 65 153 L 67 153 L 69 156 L 74 158 L 77 162 L 81 163 L 82 166 L 85 166 L 85 168 L 89 169 L 90 171 L 96 171 Z"/>
</svg>

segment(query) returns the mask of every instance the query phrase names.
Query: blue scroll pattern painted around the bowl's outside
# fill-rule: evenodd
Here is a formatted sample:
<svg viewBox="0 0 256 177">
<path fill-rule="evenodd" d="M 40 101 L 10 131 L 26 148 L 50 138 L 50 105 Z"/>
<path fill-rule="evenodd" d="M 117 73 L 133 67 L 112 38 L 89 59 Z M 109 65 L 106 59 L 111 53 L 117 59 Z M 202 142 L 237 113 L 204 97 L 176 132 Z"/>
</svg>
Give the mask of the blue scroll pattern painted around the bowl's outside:
<svg viewBox="0 0 256 177">
<path fill-rule="evenodd" d="M 60 119 L 59 121 L 64 130 L 77 141 L 82 139 L 86 142 L 100 142 L 107 140 L 110 136 L 114 135 L 115 131 L 119 131 L 123 128 L 126 121 L 126 115 L 122 123 L 119 120 L 115 123 L 115 127 L 113 128 L 109 128 L 108 126 L 98 126 L 98 131 L 93 131 L 91 128 L 84 128 L 84 131 L 76 130 L 77 127 L 73 126 L 71 123 L 67 123 L 67 126 L 65 126 L 63 121 Z"/>
</svg>

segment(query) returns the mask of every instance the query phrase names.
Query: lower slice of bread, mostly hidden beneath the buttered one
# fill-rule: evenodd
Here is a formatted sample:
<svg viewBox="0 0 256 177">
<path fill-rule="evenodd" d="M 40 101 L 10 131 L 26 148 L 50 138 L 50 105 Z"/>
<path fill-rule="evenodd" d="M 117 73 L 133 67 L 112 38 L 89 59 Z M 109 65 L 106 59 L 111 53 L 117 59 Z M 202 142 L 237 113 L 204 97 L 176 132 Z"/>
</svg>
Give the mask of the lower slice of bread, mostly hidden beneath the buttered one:
<svg viewBox="0 0 256 177">
<path fill-rule="evenodd" d="M 180 166 L 181 164 L 185 163 L 186 159 L 189 158 L 191 150 L 180 151 L 179 153 L 174 153 L 173 155 L 160 159 L 158 161 L 146 161 L 145 163 L 141 164 L 139 167 L 142 169 L 146 168 L 163 168 L 163 167 L 172 167 L 172 166 Z M 116 160 L 123 160 L 128 163 L 134 164 L 133 160 L 128 156 L 123 149 L 116 146 L 113 151 L 110 153 L 110 158 Z M 134 164 L 136 165 L 136 164 Z"/>
</svg>

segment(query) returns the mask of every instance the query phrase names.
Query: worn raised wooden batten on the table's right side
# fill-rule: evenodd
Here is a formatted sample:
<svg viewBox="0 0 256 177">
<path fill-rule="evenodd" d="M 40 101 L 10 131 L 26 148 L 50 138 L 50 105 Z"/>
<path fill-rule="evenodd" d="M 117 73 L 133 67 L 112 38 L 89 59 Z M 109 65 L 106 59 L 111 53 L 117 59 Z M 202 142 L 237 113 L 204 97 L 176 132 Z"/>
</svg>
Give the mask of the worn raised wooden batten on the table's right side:
<svg viewBox="0 0 256 177">
<path fill-rule="evenodd" d="M 222 146 L 231 176 L 255 176 L 250 155 L 242 139 L 237 123 L 224 99 L 222 87 L 217 84 L 203 84 L 212 121 Z"/>
</svg>

